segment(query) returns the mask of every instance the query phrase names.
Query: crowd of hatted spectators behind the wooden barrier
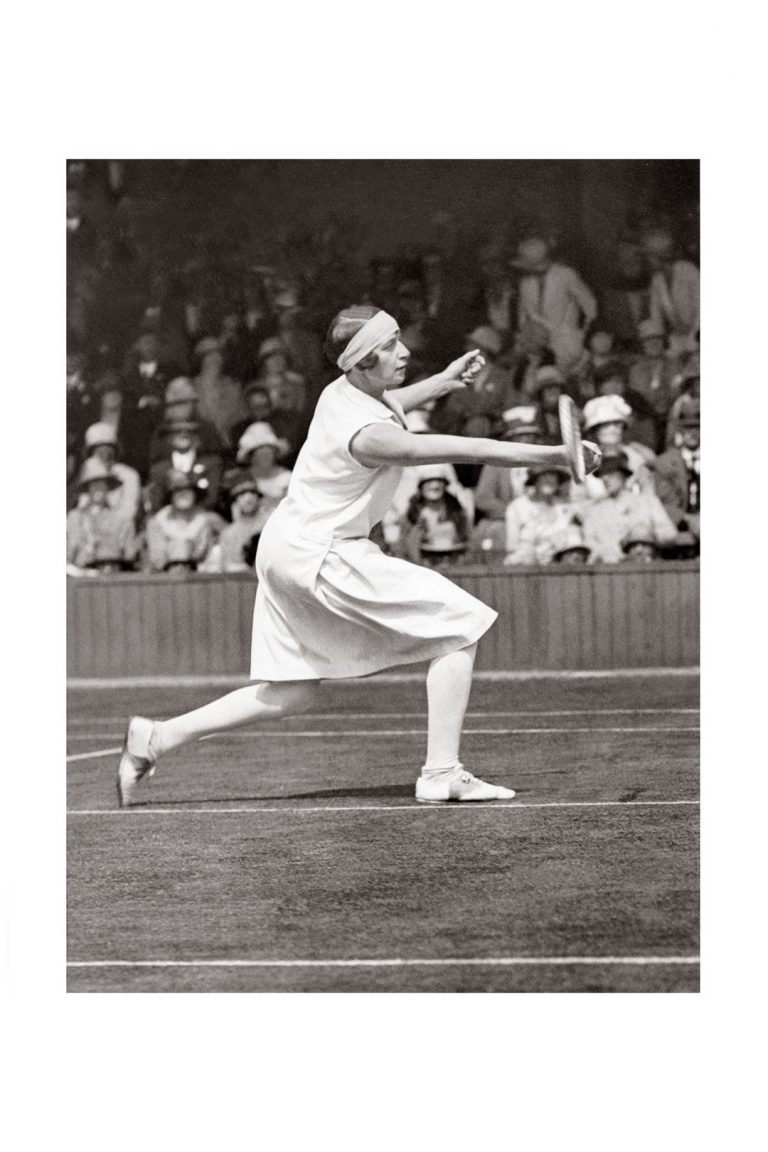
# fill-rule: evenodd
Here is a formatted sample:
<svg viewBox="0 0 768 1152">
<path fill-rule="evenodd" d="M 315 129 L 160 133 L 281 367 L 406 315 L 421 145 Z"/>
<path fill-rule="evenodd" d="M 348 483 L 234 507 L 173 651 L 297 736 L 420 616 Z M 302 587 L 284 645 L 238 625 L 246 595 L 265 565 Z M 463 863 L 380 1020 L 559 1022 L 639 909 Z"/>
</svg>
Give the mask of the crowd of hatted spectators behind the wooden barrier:
<svg viewBox="0 0 768 1152">
<path fill-rule="evenodd" d="M 557 227 L 454 206 L 418 236 L 382 225 L 373 242 L 349 211 L 326 211 L 254 240 L 249 202 L 225 195 L 243 164 L 68 164 L 70 575 L 252 568 L 339 374 L 326 328 L 352 302 L 397 318 L 405 382 L 470 348 L 485 357 L 471 387 L 409 414 L 415 433 L 558 444 L 565 392 L 603 453 L 584 485 L 555 468 L 406 469 L 383 548 L 440 566 L 699 554 L 694 180 L 661 203 L 622 200 L 595 263 L 569 249 L 565 209 Z M 265 164 L 251 161 L 254 179 Z"/>
</svg>

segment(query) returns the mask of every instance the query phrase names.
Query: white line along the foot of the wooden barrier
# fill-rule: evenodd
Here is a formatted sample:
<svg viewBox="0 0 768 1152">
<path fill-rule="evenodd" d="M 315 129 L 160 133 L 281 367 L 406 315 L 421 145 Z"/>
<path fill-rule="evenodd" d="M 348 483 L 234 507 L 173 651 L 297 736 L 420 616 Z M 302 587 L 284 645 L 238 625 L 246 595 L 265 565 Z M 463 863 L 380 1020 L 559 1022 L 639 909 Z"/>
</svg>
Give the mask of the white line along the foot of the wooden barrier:
<svg viewBox="0 0 768 1152">
<path fill-rule="evenodd" d="M 347 680 L 328 680 L 325 683 L 332 684 L 364 684 L 368 681 L 374 684 L 401 684 L 413 680 L 424 681 L 426 666 L 421 672 L 379 672 L 372 676 L 350 676 Z M 645 680 L 648 676 L 698 676 L 698 665 L 684 668 L 590 668 L 590 669 L 525 669 L 505 672 L 474 672 L 472 680 L 488 681 L 489 683 L 512 680 Z M 200 684 L 248 684 L 249 679 L 245 673 L 241 676 L 73 676 L 67 681 L 67 687 L 73 689 L 94 688 L 173 688 L 173 687 L 196 687 Z"/>
</svg>

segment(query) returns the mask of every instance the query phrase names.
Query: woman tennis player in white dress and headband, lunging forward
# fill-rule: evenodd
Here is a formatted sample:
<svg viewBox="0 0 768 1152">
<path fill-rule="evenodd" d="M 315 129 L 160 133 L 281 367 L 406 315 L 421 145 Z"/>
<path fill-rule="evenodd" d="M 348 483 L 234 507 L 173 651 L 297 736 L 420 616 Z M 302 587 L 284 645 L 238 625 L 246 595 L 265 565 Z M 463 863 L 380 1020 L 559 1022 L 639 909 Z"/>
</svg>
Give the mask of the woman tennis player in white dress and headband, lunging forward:
<svg viewBox="0 0 768 1152">
<path fill-rule="evenodd" d="M 434 569 L 386 555 L 368 536 L 404 465 L 567 465 L 565 449 L 408 432 L 404 414 L 465 387 L 463 378 L 479 354 L 400 387 L 410 354 L 396 320 L 379 309 L 353 305 L 340 312 L 326 354 L 342 374 L 322 392 L 288 493 L 259 540 L 251 683 L 172 720 L 134 717 L 117 772 L 122 806 L 174 749 L 305 711 L 322 680 L 427 660 L 427 753 L 416 798 L 515 795 L 478 780 L 459 760 L 476 647 L 496 613 Z M 599 449 L 587 445 L 585 452 L 593 470 Z"/>
</svg>

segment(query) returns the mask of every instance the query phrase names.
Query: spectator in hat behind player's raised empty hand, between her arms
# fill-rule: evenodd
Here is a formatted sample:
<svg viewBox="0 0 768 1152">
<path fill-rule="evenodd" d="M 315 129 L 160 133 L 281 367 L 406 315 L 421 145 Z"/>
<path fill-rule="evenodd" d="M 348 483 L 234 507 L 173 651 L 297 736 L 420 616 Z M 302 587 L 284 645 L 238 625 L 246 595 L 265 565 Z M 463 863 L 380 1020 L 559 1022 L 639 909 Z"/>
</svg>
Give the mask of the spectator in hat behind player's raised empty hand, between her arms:
<svg viewBox="0 0 768 1152">
<path fill-rule="evenodd" d="M 471 384 L 442 396 L 432 411 L 429 423 L 435 432 L 446 435 L 487 437 L 508 408 L 520 403 L 512 391 L 509 370 L 499 367 L 495 359 L 501 351 L 501 336 L 489 325 L 476 328 L 464 338 L 464 351 L 479 349 L 485 365 Z M 461 465 L 464 467 L 464 465 Z M 458 472 L 459 477 L 462 472 Z M 479 471 L 478 471 L 479 475 Z M 470 484 L 469 477 L 462 477 Z M 474 483 L 477 484 L 477 476 Z"/>
</svg>

